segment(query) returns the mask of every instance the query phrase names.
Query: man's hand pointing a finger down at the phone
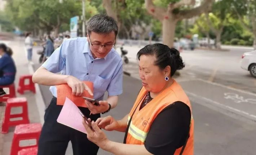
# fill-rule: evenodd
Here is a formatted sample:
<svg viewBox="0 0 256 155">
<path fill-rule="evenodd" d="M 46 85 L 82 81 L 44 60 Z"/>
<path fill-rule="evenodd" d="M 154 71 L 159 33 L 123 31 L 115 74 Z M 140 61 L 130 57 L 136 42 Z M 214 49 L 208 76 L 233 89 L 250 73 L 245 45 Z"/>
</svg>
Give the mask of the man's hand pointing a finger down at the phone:
<svg viewBox="0 0 256 155">
<path fill-rule="evenodd" d="M 80 81 L 74 76 L 67 77 L 67 85 L 72 88 L 72 94 L 75 96 L 82 96 L 84 90 L 87 90 L 93 96 L 92 90 L 83 81 Z"/>
</svg>

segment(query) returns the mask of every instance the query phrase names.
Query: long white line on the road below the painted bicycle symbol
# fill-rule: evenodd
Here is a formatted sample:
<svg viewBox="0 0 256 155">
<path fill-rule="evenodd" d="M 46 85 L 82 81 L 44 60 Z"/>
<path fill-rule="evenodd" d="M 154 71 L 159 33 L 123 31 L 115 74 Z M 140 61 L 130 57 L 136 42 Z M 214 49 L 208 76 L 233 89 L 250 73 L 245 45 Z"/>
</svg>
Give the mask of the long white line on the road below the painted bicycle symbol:
<svg viewBox="0 0 256 155">
<path fill-rule="evenodd" d="M 242 110 L 238 110 L 238 109 L 233 108 L 233 107 L 230 107 L 230 106 L 223 105 L 223 104 L 221 104 L 221 103 L 219 103 L 219 102 L 213 101 L 212 99 L 209 99 L 209 98 L 206 98 L 206 97 L 202 97 L 202 96 L 198 96 L 198 95 L 196 95 L 196 94 L 194 94 L 194 93 L 191 93 L 191 92 L 188 92 L 188 91 L 185 91 L 185 92 L 186 92 L 187 94 L 193 96 L 193 97 L 201 98 L 201 99 L 203 99 L 203 100 L 206 100 L 206 101 L 208 101 L 208 102 L 211 102 L 211 103 L 213 103 L 213 104 L 215 104 L 215 105 L 222 106 L 222 107 L 227 108 L 227 109 L 232 110 L 232 111 L 237 111 L 237 112 L 239 112 L 239 113 L 241 113 L 241 114 L 244 114 L 244 115 L 249 116 L 250 118 L 251 118 L 251 117 L 256 118 L 255 115 L 249 114 L 248 112 L 245 112 L 245 111 L 242 111 Z"/>
</svg>

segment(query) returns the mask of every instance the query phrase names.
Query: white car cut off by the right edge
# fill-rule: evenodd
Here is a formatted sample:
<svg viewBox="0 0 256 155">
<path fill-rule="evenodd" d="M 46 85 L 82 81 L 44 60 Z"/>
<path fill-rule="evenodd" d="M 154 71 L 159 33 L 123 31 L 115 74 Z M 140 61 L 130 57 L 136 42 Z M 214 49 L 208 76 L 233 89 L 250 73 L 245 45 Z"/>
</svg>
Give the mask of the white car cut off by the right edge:
<svg viewBox="0 0 256 155">
<path fill-rule="evenodd" d="M 243 54 L 241 68 L 250 71 L 251 76 L 256 78 L 256 50 Z"/>
</svg>

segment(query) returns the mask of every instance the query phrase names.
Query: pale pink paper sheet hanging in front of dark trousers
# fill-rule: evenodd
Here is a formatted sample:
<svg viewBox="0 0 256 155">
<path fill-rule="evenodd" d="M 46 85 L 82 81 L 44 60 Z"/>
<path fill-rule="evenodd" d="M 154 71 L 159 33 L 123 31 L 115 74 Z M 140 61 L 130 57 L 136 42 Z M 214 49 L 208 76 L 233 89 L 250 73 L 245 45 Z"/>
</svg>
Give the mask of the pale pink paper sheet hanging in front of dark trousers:
<svg viewBox="0 0 256 155">
<path fill-rule="evenodd" d="M 75 105 L 74 102 L 66 97 L 62 110 L 59 113 L 57 122 L 79 130 L 80 132 L 87 133 L 82 120 L 83 117 L 79 113 L 79 108 Z"/>
</svg>

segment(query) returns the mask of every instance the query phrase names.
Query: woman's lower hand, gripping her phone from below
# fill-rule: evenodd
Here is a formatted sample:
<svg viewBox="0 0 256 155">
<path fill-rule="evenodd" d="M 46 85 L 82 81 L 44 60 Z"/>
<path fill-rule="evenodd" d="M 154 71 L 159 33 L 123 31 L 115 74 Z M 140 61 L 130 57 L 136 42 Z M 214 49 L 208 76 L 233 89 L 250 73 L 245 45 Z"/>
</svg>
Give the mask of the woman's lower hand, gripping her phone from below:
<svg viewBox="0 0 256 155">
<path fill-rule="evenodd" d="M 88 120 L 91 121 L 91 119 L 88 119 Z M 83 125 L 84 125 L 85 130 L 87 131 L 88 140 L 95 143 L 100 148 L 104 149 L 107 142 L 109 142 L 109 140 L 106 137 L 106 134 L 104 132 L 102 132 L 102 130 L 97 126 L 97 124 L 94 121 L 92 121 L 91 124 L 92 124 L 92 128 L 94 131 L 90 128 L 90 126 L 83 119 Z"/>
</svg>

